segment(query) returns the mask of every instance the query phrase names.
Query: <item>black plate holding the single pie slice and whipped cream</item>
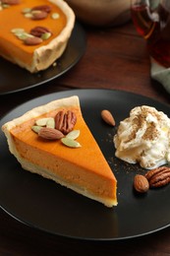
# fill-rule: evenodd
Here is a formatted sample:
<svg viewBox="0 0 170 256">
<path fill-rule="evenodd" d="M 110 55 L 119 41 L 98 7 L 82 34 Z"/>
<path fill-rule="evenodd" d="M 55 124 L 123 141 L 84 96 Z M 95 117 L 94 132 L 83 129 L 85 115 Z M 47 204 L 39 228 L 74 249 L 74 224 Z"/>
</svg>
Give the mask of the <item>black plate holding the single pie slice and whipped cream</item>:
<svg viewBox="0 0 170 256">
<path fill-rule="evenodd" d="M 50 233 L 82 239 L 116 240 L 142 236 L 170 225 L 170 186 L 137 195 L 133 178 L 143 173 L 138 164 L 114 157 L 111 128 L 100 118 L 109 109 L 119 121 L 137 105 L 155 106 L 170 113 L 170 106 L 151 98 L 110 90 L 74 90 L 32 99 L 3 117 L 0 125 L 28 109 L 64 96 L 80 96 L 85 121 L 118 179 L 118 206 L 108 209 L 53 181 L 23 170 L 9 153 L 5 136 L 0 134 L 0 205 L 17 220 Z M 90 147 L 90 146 L 89 146 Z"/>
</svg>

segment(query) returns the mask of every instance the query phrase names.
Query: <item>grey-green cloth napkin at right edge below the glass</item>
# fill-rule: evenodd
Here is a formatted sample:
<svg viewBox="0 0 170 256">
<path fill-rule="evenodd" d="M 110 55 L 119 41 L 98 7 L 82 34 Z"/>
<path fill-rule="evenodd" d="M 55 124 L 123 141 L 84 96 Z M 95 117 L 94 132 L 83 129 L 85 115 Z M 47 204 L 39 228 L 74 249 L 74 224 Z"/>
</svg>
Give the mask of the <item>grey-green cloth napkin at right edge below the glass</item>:
<svg viewBox="0 0 170 256">
<path fill-rule="evenodd" d="M 170 68 L 165 68 L 151 58 L 151 78 L 158 81 L 170 94 Z"/>
</svg>

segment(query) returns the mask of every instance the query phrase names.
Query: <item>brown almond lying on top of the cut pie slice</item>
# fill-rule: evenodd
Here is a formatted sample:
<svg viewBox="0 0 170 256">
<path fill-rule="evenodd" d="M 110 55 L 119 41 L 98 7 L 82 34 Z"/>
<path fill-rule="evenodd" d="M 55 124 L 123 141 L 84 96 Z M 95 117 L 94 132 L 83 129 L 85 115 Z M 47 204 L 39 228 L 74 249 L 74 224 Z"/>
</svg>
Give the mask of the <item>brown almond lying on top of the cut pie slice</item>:
<svg viewBox="0 0 170 256">
<path fill-rule="evenodd" d="M 60 140 L 64 137 L 63 133 L 59 130 L 48 127 L 42 127 L 38 132 L 38 136 L 50 141 Z"/>
</svg>

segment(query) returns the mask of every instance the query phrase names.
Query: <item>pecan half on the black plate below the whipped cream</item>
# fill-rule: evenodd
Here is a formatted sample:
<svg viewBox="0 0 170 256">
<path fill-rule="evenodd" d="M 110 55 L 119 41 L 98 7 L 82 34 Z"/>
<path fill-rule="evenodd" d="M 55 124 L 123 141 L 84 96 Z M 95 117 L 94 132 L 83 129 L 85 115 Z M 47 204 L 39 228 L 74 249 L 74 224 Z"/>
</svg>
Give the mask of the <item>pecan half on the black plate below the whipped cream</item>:
<svg viewBox="0 0 170 256">
<path fill-rule="evenodd" d="M 145 173 L 150 187 L 162 187 L 170 183 L 170 167 L 161 166 Z"/>
</svg>

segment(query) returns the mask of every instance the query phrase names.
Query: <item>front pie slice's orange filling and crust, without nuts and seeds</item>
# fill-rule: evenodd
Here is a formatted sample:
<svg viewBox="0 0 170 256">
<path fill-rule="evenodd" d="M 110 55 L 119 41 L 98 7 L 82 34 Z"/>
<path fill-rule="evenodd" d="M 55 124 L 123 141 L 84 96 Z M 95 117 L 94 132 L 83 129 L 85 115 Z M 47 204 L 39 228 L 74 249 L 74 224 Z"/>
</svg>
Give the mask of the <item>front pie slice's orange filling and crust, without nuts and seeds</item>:
<svg viewBox="0 0 170 256">
<path fill-rule="evenodd" d="M 79 99 L 73 96 L 65 100 L 69 103 L 63 105 L 62 99 L 62 103 L 58 104 L 56 100 L 51 103 L 53 107 L 48 112 L 32 109 L 23 117 L 5 124 L 2 129 L 8 138 L 10 151 L 29 171 L 51 178 L 107 207 L 117 205 L 116 178 L 85 124 Z M 77 141 L 82 147 L 73 149 L 63 145 L 61 140 L 44 140 L 31 130 L 36 119 L 54 117 L 61 109 L 76 113 L 74 130 L 81 132 Z"/>
</svg>

